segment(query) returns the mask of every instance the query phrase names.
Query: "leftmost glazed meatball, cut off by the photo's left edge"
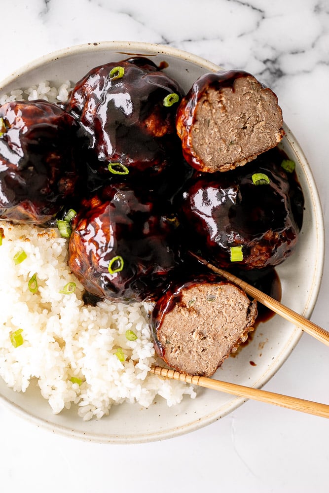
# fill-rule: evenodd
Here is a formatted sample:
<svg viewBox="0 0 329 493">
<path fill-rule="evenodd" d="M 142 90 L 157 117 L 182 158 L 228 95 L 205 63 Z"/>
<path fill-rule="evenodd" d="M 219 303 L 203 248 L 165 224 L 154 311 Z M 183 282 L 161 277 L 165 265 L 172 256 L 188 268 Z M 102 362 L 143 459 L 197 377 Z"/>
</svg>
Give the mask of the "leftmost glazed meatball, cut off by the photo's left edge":
<svg viewBox="0 0 329 493">
<path fill-rule="evenodd" d="M 41 224 L 73 194 L 78 125 L 45 101 L 0 107 L 0 217 Z"/>
</svg>

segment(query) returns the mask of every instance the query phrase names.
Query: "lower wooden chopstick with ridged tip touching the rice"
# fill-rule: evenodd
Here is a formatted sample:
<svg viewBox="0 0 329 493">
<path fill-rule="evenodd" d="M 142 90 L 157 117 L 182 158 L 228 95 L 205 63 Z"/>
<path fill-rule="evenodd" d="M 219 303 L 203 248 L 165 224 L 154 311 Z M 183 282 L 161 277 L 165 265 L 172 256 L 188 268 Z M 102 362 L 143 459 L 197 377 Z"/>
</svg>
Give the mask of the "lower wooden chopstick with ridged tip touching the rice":
<svg viewBox="0 0 329 493">
<path fill-rule="evenodd" d="M 294 411 L 301 411 L 302 413 L 321 416 L 322 418 L 329 418 L 329 405 L 321 404 L 320 402 L 313 402 L 305 399 L 299 399 L 298 397 L 268 392 L 267 390 L 261 390 L 259 388 L 230 384 L 228 382 L 222 382 L 209 377 L 185 375 L 175 370 L 163 368 L 162 366 L 151 366 L 150 371 L 155 375 L 180 380 L 181 382 L 186 382 L 187 384 L 212 388 L 213 390 L 219 390 L 227 394 L 267 402 L 268 404 L 274 404 L 275 406 L 293 409 Z"/>
</svg>

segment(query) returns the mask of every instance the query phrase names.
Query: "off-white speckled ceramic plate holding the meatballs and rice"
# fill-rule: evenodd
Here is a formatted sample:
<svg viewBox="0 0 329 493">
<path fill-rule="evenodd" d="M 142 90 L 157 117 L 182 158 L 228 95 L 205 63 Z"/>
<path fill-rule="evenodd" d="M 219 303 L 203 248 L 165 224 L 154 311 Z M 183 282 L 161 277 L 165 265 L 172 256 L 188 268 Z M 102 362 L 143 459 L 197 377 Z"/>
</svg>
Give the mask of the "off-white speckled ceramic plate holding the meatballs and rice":
<svg viewBox="0 0 329 493">
<path fill-rule="evenodd" d="M 0 94 L 27 88 L 42 80 L 50 80 L 55 85 L 67 79 L 76 82 L 91 68 L 123 60 L 132 54 L 151 57 L 156 64 L 167 62 L 165 71 L 185 90 L 199 75 L 219 70 L 207 60 L 166 46 L 116 41 L 89 43 L 52 53 L 17 70 L 0 83 Z M 323 270 L 323 217 L 306 158 L 291 131 L 287 127 L 285 130 L 286 137 L 280 145 L 297 163 L 296 171 L 305 196 L 305 213 L 296 252 L 277 268 L 277 272 L 282 285 L 282 302 L 310 317 Z M 283 364 L 300 336 L 300 329 L 275 316 L 257 327 L 252 341 L 236 357 L 228 358 L 215 377 L 261 387 Z M 122 404 L 112 407 L 109 417 L 84 422 L 73 408 L 54 416 L 34 385 L 26 393 L 19 393 L 0 380 L 0 396 L 12 410 L 37 425 L 68 436 L 110 443 L 147 442 L 187 433 L 219 420 L 244 402 L 240 397 L 199 388 L 196 399 L 185 397 L 178 406 L 169 408 L 158 397 L 147 409 L 138 404 Z"/>
</svg>

